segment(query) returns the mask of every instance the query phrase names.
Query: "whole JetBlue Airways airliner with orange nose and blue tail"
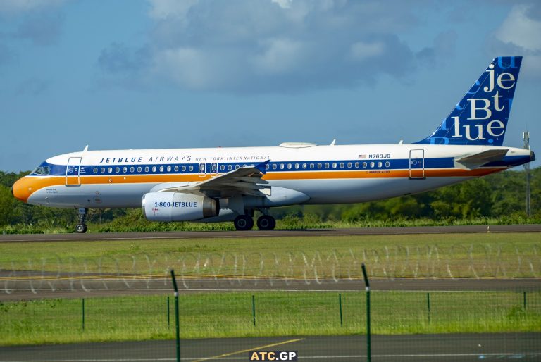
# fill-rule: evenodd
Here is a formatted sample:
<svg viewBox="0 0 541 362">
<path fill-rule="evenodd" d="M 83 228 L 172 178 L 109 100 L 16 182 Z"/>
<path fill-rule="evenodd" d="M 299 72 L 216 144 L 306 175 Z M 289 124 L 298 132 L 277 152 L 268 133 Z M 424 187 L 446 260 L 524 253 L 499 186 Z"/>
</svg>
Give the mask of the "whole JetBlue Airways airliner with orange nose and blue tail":
<svg viewBox="0 0 541 362">
<path fill-rule="evenodd" d="M 84 151 L 47 159 L 15 182 L 29 204 L 79 210 L 143 208 L 153 221 L 232 220 L 275 227 L 272 207 L 387 199 L 533 161 L 502 146 L 522 57 L 495 58 L 432 135 L 413 144 Z"/>
</svg>

